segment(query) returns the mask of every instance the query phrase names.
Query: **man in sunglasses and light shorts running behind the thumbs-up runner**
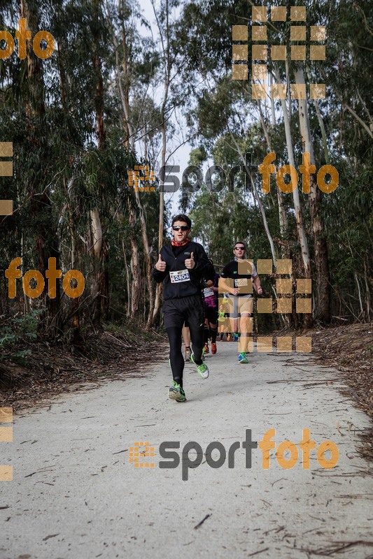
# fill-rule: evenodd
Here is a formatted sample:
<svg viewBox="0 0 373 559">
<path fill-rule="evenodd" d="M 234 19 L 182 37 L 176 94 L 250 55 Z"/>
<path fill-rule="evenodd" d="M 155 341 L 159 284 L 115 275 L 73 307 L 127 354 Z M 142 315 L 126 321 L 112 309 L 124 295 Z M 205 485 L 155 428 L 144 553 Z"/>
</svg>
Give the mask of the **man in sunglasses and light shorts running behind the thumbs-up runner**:
<svg viewBox="0 0 373 559">
<path fill-rule="evenodd" d="M 234 319 L 234 341 L 239 341 L 239 363 L 248 363 L 248 333 L 253 331 L 250 321 L 253 312 L 253 286 L 258 295 L 262 286 L 253 262 L 245 260 L 246 247 L 237 241 L 234 245 L 234 260 L 227 263 L 219 279 L 219 291 L 227 293 L 230 317 Z M 238 318 L 240 317 L 241 340 L 238 335 Z M 231 321 L 232 322 L 232 321 Z"/>
</svg>

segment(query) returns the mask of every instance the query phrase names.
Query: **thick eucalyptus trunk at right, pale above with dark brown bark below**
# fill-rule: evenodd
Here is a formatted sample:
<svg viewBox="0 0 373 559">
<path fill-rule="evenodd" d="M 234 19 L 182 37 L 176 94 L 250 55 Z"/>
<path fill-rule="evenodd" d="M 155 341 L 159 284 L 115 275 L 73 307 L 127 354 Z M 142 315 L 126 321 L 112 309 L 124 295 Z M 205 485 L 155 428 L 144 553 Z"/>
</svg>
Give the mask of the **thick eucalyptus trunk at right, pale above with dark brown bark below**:
<svg viewBox="0 0 373 559">
<path fill-rule="evenodd" d="M 295 82 L 304 84 L 304 71 L 299 67 L 295 70 Z M 302 150 L 309 153 L 310 164 L 315 165 L 314 145 L 311 140 L 307 99 L 298 100 L 300 133 Z M 315 169 L 316 170 L 316 169 Z M 328 264 L 328 244 L 324 234 L 324 226 L 320 215 L 322 194 L 317 187 L 316 174 L 309 177 L 309 212 L 311 227 L 314 234 L 314 254 L 316 269 L 316 297 L 314 297 L 314 318 L 324 323 L 330 322 L 330 271 Z"/>
</svg>

